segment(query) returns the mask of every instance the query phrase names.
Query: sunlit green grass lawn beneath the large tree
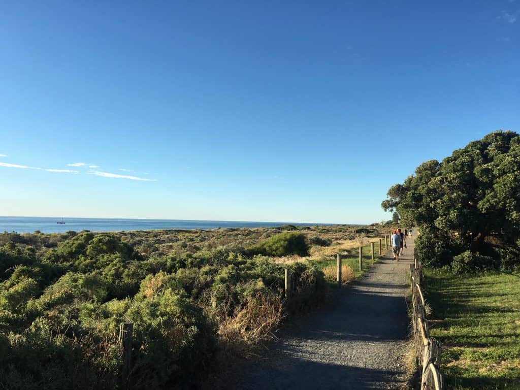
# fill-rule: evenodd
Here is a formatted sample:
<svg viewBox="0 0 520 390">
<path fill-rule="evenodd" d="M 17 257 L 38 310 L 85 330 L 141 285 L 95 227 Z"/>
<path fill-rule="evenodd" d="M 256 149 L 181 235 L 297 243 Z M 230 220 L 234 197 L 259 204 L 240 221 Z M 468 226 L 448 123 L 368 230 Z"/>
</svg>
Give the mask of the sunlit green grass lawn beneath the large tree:
<svg viewBox="0 0 520 390">
<path fill-rule="evenodd" d="M 520 274 L 425 270 L 448 388 L 520 389 Z"/>
</svg>

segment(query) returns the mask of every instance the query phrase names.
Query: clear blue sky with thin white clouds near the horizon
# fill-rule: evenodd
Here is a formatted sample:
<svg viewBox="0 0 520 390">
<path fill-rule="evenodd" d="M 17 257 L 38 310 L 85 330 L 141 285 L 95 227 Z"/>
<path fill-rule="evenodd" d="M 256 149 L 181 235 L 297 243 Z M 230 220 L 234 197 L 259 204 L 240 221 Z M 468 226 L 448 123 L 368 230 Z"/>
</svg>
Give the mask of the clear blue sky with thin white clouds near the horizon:
<svg viewBox="0 0 520 390">
<path fill-rule="evenodd" d="M 0 54 L 0 215 L 370 223 L 520 131 L 518 0 L 12 1 Z"/>
</svg>

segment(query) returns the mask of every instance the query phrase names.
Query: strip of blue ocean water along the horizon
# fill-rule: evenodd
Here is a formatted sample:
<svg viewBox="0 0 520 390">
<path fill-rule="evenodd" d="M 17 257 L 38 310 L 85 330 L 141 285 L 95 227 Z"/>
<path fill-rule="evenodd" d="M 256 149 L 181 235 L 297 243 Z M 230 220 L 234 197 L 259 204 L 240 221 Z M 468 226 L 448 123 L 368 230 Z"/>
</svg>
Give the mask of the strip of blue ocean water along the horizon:
<svg viewBox="0 0 520 390">
<path fill-rule="evenodd" d="M 158 230 L 158 229 L 215 229 L 240 227 L 281 226 L 285 222 L 241 222 L 225 220 L 184 220 L 184 219 L 119 219 L 119 218 L 61 218 L 53 217 L 2 217 L 0 216 L 0 232 L 16 231 L 32 233 L 40 230 L 43 233 L 60 233 L 69 230 L 81 231 L 121 231 L 121 230 Z M 291 225 L 313 226 L 332 224 L 290 223 Z"/>
</svg>

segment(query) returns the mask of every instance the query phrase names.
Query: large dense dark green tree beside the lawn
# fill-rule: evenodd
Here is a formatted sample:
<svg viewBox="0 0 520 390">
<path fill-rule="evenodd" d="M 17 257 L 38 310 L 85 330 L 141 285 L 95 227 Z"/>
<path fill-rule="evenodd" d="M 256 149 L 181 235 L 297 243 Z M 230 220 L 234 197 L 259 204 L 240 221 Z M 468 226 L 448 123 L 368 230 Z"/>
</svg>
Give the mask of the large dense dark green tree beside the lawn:
<svg viewBox="0 0 520 390">
<path fill-rule="evenodd" d="M 491 133 L 440 163 L 424 162 L 387 195 L 385 211 L 396 210 L 401 222 L 420 227 L 416 245 L 423 261 L 450 265 L 460 255 L 457 272 L 520 267 L 518 134 Z"/>
</svg>

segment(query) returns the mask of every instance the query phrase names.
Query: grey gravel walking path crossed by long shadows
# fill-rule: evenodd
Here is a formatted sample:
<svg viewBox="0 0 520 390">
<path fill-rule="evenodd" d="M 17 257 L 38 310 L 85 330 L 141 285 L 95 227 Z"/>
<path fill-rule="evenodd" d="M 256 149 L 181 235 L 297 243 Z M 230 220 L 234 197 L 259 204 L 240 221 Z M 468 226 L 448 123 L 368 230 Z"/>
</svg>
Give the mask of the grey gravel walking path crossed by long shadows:
<svg viewBox="0 0 520 390">
<path fill-rule="evenodd" d="M 239 389 L 398 388 L 406 373 L 405 294 L 413 240 L 399 263 L 390 251 L 326 310 L 298 320 L 267 357 L 236 378 Z"/>
</svg>

